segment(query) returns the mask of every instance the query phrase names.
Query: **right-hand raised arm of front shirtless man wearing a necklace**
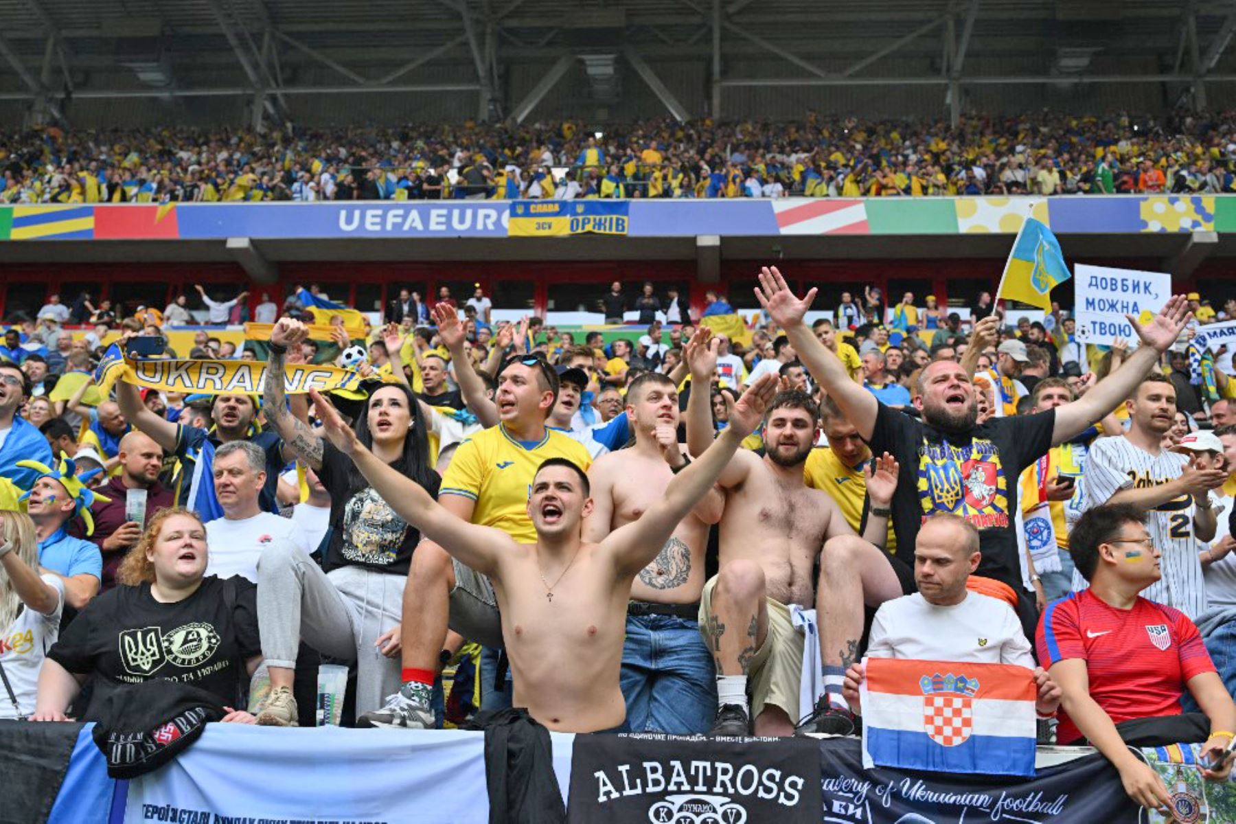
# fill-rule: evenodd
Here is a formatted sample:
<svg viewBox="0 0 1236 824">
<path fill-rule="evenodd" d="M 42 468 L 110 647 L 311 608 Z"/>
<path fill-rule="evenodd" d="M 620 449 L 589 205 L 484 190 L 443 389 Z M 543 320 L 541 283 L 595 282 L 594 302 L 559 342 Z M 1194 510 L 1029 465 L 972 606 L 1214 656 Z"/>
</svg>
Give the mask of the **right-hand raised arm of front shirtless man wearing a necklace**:
<svg viewBox="0 0 1236 824">
<path fill-rule="evenodd" d="M 753 383 L 738 403 L 729 403 L 729 425 L 712 445 L 692 463 L 681 469 L 665 497 L 648 509 L 638 520 L 614 530 L 601 546 L 614 552 L 624 573 L 635 574 L 656 557 L 665 541 L 674 534 L 679 523 L 687 513 L 708 494 L 721 473 L 742 446 L 743 439 L 755 431 L 764 419 L 777 390 L 777 377 L 765 374 Z M 677 448 L 677 445 L 674 445 Z"/>
</svg>

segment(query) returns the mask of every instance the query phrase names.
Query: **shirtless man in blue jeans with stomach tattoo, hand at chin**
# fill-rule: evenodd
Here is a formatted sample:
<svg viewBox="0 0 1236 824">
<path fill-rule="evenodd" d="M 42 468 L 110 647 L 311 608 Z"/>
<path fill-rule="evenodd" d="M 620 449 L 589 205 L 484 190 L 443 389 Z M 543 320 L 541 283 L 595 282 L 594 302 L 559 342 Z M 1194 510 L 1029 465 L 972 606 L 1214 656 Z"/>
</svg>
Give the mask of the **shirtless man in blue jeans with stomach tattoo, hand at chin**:
<svg viewBox="0 0 1236 824">
<path fill-rule="evenodd" d="M 639 520 L 687 465 L 677 435 L 679 393 L 667 376 L 649 372 L 632 382 L 627 418 L 635 445 L 602 456 L 588 469 L 593 509 L 583 521 L 583 540 L 593 544 Z M 697 616 L 708 526 L 721 520 L 723 507 L 721 492 L 711 489 L 632 586 L 622 692 L 633 733 L 691 735 L 712 725 L 716 676 Z"/>
</svg>

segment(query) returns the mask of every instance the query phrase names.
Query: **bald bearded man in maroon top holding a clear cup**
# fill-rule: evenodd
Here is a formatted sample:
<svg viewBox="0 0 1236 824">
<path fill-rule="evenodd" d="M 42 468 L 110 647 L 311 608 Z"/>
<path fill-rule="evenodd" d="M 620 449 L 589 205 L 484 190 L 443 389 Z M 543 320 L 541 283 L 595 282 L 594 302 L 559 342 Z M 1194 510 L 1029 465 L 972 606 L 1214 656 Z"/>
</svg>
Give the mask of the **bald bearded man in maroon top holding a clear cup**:
<svg viewBox="0 0 1236 824">
<path fill-rule="evenodd" d="M 90 508 L 90 514 L 94 515 L 94 535 L 90 535 L 89 540 L 103 552 L 104 592 L 116 584 L 116 568 L 125 552 L 137 544 L 145 526 L 125 518 L 125 499 L 129 490 L 146 492 L 147 520 L 159 509 L 176 505 L 172 490 L 163 487 L 158 479 L 159 469 L 163 467 L 163 447 L 150 435 L 137 430 L 130 431 L 120 439 L 116 457 L 120 461 L 120 474 L 98 489 L 99 494 L 110 500 L 96 502 Z M 73 521 L 74 525 L 78 523 Z M 74 528 L 80 529 L 80 526 Z"/>
</svg>

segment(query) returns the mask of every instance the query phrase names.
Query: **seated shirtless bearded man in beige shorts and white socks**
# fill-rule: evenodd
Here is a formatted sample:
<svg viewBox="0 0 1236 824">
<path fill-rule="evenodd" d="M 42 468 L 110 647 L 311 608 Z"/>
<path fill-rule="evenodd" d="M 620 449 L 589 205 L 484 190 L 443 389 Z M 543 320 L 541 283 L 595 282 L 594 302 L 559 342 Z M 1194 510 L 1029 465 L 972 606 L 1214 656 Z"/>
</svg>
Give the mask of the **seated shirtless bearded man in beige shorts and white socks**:
<svg viewBox="0 0 1236 824">
<path fill-rule="evenodd" d="M 717 345 L 707 335 L 686 347 L 691 383 L 712 383 Z M 728 427 L 727 427 L 728 429 Z M 687 444 L 700 455 L 712 440 L 707 393 L 687 401 Z M 727 430 L 722 430 L 727 431 Z M 764 420 L 765 456 L 743 451 L 721 473 L 726 494 L 721 520 L 721 570 L 705 584 L 700 626 L 717 666 L 717 719 L 713 735 L 791 735 L 798 713 L 803 636 L 790 620 L 790 605 L 816 605 L 812 565 L 821 547 L 866 541 L 883 546 L 896 463 L 885 455 L 866 469 L 871 498 L 863 539 L 826 493 L 803 483 L 803 465 L 819 435 L 819 413 L 802 392 L 781 392 Z M 827 541 L 827 546 L 826 546 Z M 824 614 L 824 605 L 817 605 Z M 748 678 L 750 709 L 748 709 Z M 829 678 L 832 678 L 829 681 Z M 840 697 L 845 670 L 826 673 L 826 689 Z"/>
</svg>

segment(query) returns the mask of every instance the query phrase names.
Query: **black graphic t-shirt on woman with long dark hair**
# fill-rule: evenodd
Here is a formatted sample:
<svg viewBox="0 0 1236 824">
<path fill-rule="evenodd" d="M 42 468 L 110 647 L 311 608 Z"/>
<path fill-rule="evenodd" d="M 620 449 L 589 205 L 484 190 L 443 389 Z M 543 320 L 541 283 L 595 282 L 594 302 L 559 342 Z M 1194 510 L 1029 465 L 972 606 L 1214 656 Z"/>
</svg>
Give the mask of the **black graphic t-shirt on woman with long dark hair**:
<svg viewBox="0 0 1236 824">
<path fill-rule="evenodd" d="M 412 551 L 420 542 L 420 532 L 368 484 L 352 487 L 349 468 L 352 460 L 329 441 L 323 440 L 321 468 L 318 478 L 330 493 L 330 531 L 326 535 L 326 572 L 339 567 L 357 566 L 391 574 L 408 574 Z M 425 489 L 438 497 L 440 478 L 431 472 L 433 487 Z"/>
</svg>

